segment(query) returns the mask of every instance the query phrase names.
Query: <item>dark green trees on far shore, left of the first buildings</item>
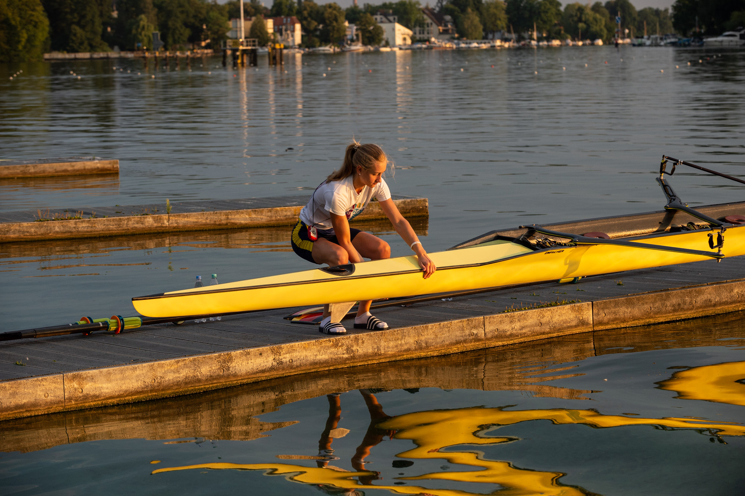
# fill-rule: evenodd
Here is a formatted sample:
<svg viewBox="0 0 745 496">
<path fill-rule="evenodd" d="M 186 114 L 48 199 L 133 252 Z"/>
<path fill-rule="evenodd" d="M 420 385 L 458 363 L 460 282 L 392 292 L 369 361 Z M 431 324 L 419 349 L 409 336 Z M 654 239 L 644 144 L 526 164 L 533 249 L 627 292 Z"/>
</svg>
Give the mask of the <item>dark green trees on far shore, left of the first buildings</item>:
<svg viewBox="0 0 745 496">
<path fill-rule="evenodd" d="M 228 13 L 208 0 L 0 0 L 0 60 L 152 48 L 153 31 L 169 49 L 217 45 L 226 39 Z"/>
</svg>

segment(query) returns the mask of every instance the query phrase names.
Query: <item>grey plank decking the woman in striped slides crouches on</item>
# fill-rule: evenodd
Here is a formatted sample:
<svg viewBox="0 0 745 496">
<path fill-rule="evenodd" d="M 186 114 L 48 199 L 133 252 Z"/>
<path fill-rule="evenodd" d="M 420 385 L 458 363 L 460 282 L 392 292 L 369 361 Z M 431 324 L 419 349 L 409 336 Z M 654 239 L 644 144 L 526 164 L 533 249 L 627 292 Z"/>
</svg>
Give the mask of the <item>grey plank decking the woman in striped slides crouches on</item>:
<svg viewBox="0 0 745 496">
<path fill-rule="evenodd" d="M 528 308 L 557 300 L 599 302 L 638 293 L 659 293 L 681 287 L 735 282 L 739 279 L 745 279 L 745 256 L 725 258 L 720 264 L 702 261 L 591 277 L 576 284 L 542 284 L 457 296 L 451 301 L 438 299 L 408 307 L 397 305 L 380 308 L 375 311 L 375 315 L 388 322 L 394 330 L 406 332 L 407 328 L 414 326 L 501 314 L 506 309 Z M 720 297 L 738 298 L 727 294 L 720 294 Z M 691 305 L 695 306 L 695 302 Z M 0 343 L 0 381 L 285 343 L 335 339 L 320 334 L 315 325 L 295 324 L 282 319 L 295 310 L 297 309 L 261 311 L 226 316 L 220 321 L 189 321 L 184 325 L 146 325 L 118 335 L 98 332 L 89 336 L 75 334 L 4 342 Z M 704 312 L 715 313 L 720 312 Z M 665 318 L 659 319 L 662 320 Z M 373 331 L 355 331 L 352 329 L 352 321 L 344 322 L 348 335 L 375 334 Z M 329 346 L 332 346 L 331 343 Z"/>
</svg>

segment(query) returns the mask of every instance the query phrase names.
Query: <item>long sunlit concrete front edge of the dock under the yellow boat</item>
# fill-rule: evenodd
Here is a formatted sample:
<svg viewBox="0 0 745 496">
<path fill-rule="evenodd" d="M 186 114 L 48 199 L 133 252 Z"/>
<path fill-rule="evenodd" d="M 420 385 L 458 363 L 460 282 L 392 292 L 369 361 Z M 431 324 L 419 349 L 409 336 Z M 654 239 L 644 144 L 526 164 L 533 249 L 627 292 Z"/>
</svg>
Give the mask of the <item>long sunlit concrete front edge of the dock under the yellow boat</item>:
<svg viewBox="0 0 745 496">
<path fill-rule="evenodd" d="M 745 281 L 0 382 L 0 420 L 745 308 Z"/>
</svg>

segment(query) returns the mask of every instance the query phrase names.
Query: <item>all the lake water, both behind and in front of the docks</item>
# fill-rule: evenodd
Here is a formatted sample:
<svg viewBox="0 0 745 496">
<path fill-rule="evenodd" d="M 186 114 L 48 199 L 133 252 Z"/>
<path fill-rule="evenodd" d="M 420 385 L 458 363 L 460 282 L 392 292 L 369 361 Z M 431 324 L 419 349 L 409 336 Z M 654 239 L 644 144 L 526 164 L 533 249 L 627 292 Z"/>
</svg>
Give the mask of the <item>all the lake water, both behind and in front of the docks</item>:
<svg viewBox="0 0 745 496">
<path fill-rule="evenodd" d="M 169 69 L 0 65 L 1 159 L 121 165 L 118 176 L 0 180 L 0 209 L 308 195 L 355 136 L 390 154 L 394 193 L 429 198 L 430 217 L 413 226 L 434 251 L 498 227 L 660 209 L 663 153 L 745 175 L 745 51 L 285 60 L 236 71 L 217 57 Z M 691 171 L 671 183 L 694 206 L 743 197 Z M 358 227 L 408 253 L 387 222 Z M 0 331 L 131 315 L 131 296 L 190 287 L 197 274 L 307 269 L 288 235 L 0 244 Z M 745 483 L 741 322 L 577 334 L 1 422 L 1 492 L 734 495 Z"/>
</svg>

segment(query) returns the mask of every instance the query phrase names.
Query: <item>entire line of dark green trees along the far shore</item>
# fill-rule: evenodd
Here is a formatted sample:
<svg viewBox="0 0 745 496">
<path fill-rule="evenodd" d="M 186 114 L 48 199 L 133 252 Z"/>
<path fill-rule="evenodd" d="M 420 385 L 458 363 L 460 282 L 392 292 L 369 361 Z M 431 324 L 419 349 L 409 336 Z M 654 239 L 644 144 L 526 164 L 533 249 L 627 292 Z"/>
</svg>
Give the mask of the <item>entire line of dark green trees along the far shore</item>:
<svg viewBox="0 0 745 496">
<path fill-rule="evenodd" d="M 239 16 L 239 0 L 0 0 L 0 61 L 40 60 L 46 51 L 108 51 L 152 48 L 159 31 L 165 48 L 177 50 L 197 43 L 218 46 L 226 39 L 229 19 Z M 641 10 L 629 0 L 594 4 L 575 2 L 562 8 L 559 0 L 437 0 L 435 11 L 450 16 L 457 36 L 482 39 L 498 31 L 538 39 L 615 36 L 621 16 L 623 36 L 679 34 L 711 36 L 745 25 L 745 0 L 676 0 L 669 9 Z M 274 0 L 270 8 L 259 0 L 244 1 L 244 15 L 254 17 L 248 37 L 269 41 L 264 18 L 297 16 L 303 45 L 343 42 L 345 21 L 357 25 L 362 42 L 379 45 L 383 30 L 373 19 L 383 11 L 412 30 L 425 25 L 416 0 L 384 1 L 345 9 L 335 2 Z M 629 32 L 626 33 L 625 30 Z"/>
</svg>

